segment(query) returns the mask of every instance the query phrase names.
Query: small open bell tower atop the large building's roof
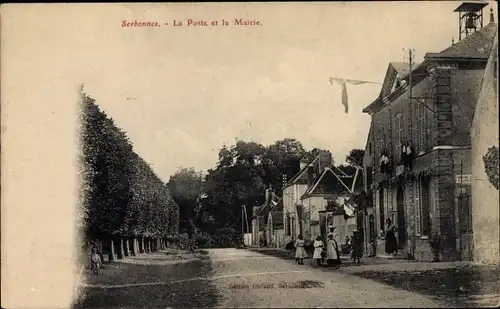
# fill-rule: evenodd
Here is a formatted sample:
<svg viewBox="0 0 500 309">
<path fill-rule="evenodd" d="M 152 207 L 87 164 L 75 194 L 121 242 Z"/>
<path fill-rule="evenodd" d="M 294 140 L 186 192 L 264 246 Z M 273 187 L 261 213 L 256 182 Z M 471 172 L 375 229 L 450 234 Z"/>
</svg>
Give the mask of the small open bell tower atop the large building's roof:
<svg viewBox="0 0 500 309">
<path fill-rule="evenodd" d="M 463 2 L 454 12 L 458 12 L 458 40 L 483 27 L 483 8 L 487 3 Z"/>
</svg>

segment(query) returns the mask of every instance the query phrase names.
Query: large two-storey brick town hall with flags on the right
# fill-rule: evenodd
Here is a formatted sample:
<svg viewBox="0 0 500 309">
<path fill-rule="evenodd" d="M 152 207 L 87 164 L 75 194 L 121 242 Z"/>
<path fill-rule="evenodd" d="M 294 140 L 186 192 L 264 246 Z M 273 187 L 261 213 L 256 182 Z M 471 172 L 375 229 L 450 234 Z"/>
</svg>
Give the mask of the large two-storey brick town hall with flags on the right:
<svg viewBox="0 0 500 309">
<path fill-rule="evenodd" d="M 470 130 L 496 32 L 490 22 L 411 72 L 389 64 L 380 95 L 363 110 L 371 116 L 364 165 L 376 229 L 390 218 L 409 257 L 432 260 L 435 236 L 441 260 L 472 258 Z M 385 254 L 383 238 L 377 255 Z"/>
</svg>

